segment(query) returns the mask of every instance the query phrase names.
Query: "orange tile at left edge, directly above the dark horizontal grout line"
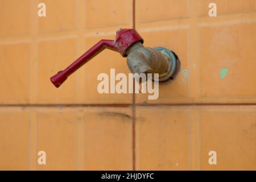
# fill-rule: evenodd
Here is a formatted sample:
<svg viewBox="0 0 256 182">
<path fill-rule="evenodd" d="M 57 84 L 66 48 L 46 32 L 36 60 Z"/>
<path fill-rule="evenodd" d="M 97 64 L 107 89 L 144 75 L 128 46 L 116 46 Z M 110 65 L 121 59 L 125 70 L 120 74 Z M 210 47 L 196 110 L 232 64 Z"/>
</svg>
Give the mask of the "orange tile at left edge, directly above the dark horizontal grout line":
<svg viewBox="0 0 256 182">
<path fill-rule="evenodd" d="M 0 45 L 0 104 L 25 104 L 30 89 L 30 43 Z"/>
</svg>

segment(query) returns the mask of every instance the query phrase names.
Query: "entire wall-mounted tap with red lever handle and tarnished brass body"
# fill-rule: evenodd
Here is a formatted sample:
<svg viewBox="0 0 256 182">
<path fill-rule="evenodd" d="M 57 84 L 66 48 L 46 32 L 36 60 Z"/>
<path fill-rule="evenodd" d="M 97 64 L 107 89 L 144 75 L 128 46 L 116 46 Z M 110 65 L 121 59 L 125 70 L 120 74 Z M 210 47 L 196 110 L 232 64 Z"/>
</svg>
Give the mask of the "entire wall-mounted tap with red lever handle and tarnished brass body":
<svg viewBox="0 0 256 182">
<path fill-rule="evenodd" d="M 180 69 L 180 61 L 175 53 L 163 47 L 144 47 L 143 42 L 144 40 L 136 30 L 119 29 L 115 40 L 100 40 L 66 69 L 52 76 L 50 80 L 58 88 L 68 76 L 105 48 L 127 57 L 127 65 L 132 73 L 151 73 L 152 75 L 158 73 L 161 82 L 173 80 Z"/>
</svg>

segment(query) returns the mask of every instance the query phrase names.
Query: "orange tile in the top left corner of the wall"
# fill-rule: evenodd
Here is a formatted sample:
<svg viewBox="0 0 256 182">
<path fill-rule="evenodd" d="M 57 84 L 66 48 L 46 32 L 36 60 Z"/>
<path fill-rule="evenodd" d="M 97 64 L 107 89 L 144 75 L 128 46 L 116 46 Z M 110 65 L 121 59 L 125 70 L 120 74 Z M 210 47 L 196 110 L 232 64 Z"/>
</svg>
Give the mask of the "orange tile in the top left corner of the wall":
<svg viewBox="0 0 256 182">
<path fill-rule="evenodd" d="M 30 34 L 30 1 L 1 0 L 0 37 Z"/>
</svg>

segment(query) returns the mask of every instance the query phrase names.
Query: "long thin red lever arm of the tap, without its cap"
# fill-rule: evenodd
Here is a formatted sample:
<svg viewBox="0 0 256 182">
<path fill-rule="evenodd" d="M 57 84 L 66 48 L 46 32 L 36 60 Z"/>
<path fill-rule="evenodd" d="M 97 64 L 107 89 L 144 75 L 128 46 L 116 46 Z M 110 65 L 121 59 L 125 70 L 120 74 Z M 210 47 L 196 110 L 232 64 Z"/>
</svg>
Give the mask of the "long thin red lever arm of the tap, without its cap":
<svg viewBox="0 0 256 182">
<path fill-rule="evenodd" d="M 95 46 L 93 46 L 87 52 L 85 52 L 81 57 L 79 57 L 79 59 L 77 59 L 66 69 L 64 69 L 64 71 L 59 71 L 56 75 L 52 76 L 50 80 L 53 83 L 53 85 L 55 85 L 56 88 L 58 88 L 61 84 L 63 84 L 63 82 L 68 78 L 69 75 L 71 75 L 82 65 L 87 63 L 90 59 L 92 59 L 98 53 L 103 51 L 105 48 L 112 49 L 113 51 L 118 52 L 114 40 L 100 40 L 100 42 L 98 42 Z"/>
</svg>

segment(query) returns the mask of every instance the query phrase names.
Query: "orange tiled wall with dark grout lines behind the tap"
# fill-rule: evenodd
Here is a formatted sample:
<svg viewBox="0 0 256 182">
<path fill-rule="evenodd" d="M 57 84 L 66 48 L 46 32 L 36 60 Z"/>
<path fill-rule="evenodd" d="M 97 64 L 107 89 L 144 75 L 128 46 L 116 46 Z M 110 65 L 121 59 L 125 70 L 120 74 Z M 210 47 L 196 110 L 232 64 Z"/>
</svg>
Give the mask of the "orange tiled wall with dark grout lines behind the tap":
<svg viewBox="0 0 256 182">
<path fill-rule="evenodd" d="M 0 24 L 0 169 L 256 169 L 255 0 L 0 0 Z M 109 50 L 51 84 L 98 40 L 133 27 L 145 46 L 180 58 L 158 100 L 97 92 L 99 73 L 130 73 Z"/>
</svg>

